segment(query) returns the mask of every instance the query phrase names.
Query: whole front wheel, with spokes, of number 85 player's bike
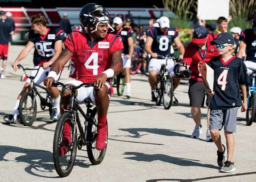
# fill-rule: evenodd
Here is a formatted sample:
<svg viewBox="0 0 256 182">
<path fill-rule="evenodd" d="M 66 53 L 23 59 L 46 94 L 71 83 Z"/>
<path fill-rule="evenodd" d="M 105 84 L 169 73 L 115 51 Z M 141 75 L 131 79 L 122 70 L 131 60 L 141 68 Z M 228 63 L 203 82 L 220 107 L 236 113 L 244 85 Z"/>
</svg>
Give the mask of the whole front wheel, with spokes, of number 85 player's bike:
<svg viewBox="0 0 256 182">
<path fill-rule="evenodd" d="M 19 103 L 19 116 L 24 126 L 31 126 L 34 123 L 36 111 L 37 106 L 34 94 L 32 92 L 24 93 Z"/>
</svg>

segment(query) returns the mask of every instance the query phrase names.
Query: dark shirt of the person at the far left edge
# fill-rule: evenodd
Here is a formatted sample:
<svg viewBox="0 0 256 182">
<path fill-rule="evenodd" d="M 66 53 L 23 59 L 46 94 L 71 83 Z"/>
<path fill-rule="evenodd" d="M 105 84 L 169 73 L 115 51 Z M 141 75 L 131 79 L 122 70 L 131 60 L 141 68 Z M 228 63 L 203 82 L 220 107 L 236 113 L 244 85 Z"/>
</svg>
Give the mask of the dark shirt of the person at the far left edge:
<svg viewBox="0 0 256 182">
<path fill-rule="evenodd" d="M 11 23 L 0 19 L 0 44 L 9 44 L 11 31 L 13 31 Z"/>
</svg>

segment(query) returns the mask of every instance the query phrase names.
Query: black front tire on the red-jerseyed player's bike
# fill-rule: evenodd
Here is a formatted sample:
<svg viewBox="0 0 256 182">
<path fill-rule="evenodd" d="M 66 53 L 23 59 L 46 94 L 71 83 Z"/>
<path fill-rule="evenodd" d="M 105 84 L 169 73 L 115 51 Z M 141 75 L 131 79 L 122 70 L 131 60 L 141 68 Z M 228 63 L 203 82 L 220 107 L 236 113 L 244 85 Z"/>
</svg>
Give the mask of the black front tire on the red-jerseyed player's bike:
<svg viewBox="0 0 256 182">
<path fill-rule="evenodd" d="M 61 115 L 60 119 L 58 120 L 58 123 L 55 128 L 54 132 L 54 138 L 53 138 L 53 162 L 54 162 L 54 167 L 55 170 L 57 171 L 58 175 L 60 177 L 66 177 L 70 174 L 72 171 L 75 160 L 76 160 L 76 151 L 77 151 L 77 133 L 75 134 L 75 142 L 73 145 L 73 153 L 72 156 L 69 160 L 69 167 L 66 171 L 63 171 L 60 166 L 60 161 L 59 161 L 59 139 L 61 136 L 62 132 L 62 125 L 64 124 L 66 119 L 72 119 L 72 115 L 69 112 L 65 112 L 64 114 Z M 71 128 L 74 128 L 74 126 L 71 126 Z M 72 133 L 73 134 L 73 133 Z"/>
</svg>

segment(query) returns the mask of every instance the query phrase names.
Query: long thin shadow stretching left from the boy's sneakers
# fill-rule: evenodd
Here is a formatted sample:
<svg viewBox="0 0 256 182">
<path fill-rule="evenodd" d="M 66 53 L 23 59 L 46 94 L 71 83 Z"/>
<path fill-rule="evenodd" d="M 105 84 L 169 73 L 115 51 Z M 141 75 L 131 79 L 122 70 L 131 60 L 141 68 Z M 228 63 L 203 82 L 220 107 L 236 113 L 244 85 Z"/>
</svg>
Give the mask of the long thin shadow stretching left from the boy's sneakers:
<svg viewBox="0 0 256 182">
<path fill-rule="evenodd" d="M 172 157 L 170 155 L 164 154 L 145 154 L 140 152 L 125 152 L 124 155 L 134 155 L 134 157 L 126 157 L 124 159 L 136 160 L 136 161 L 145 161 L 145 162 L 152 162 L 152 161 L 162 161 L 175 164 L 177 166 L 198 166 L 204 168 L 213 168 L 219 169 L 217 166 L 213 166 L 212 164 L 202 164 L 199 163 L 199 160 L 193 159 L 185 159 L 185 158 L 177 158 Z"/>
</svg>

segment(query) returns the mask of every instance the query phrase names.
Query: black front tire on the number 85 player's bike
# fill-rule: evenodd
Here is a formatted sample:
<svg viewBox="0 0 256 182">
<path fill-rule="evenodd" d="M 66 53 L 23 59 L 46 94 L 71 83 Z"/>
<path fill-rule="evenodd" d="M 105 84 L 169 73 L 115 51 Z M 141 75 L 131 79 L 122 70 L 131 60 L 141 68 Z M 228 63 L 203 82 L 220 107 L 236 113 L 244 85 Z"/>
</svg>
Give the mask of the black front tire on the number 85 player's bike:
<svg viewBox="0 0 256 182">
<path fill-rule="evenodd" d="M 35 122 L 35 119 L 36 119 L 36 113 L 37 113 L 37 105 L 36 105 L 36 99 L 35 99 L 35 103 L 34 103 L 34 110 L 33 110 L 33 116 L 31 117 L 31 120 L 30 122 L 26 122 L 26 120 L 24 119 L 23 117 L 23 110 L 22 110 L 22 105 L 23 105 L 23 102 L 25 102 L 25 99 L 27 97 L 30 97 L 31 99 L 33 99 L 34 97 L 34 94 L 32 92 L 26 92 L 22 95 L 21 99 L 20 99 L 20 103 L 19 103 L 19 116 L 20 116 L 20 120 L 21 120 L 21 123 L 24 125 L 24 126 L 31 126 L 34 122 Z"/>
</svg>

